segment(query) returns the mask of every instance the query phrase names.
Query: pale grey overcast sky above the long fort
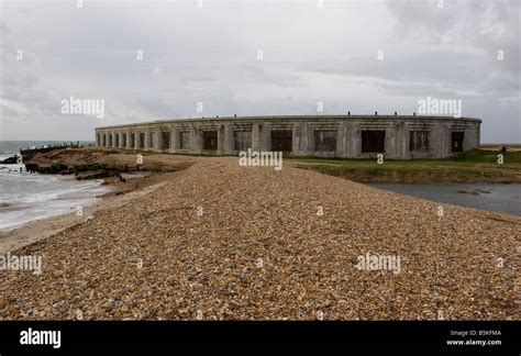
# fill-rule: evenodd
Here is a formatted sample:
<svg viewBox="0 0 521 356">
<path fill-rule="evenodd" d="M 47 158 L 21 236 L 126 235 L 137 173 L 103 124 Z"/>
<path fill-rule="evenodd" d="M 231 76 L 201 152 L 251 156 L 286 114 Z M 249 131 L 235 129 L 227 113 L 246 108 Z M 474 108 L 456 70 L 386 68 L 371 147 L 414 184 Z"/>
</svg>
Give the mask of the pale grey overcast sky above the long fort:
<svg viewBox="0 0 521 356">
<path fill-rule="evenodd" d="M 521 143 L 520 1 L 440 1 L 0 0 L 0 140 L 319 102 L 411 114 L 432 97 L 483 119 L 481 142 Z M 63 114 L 70 97 L 104 116 Z"/>
</svg>

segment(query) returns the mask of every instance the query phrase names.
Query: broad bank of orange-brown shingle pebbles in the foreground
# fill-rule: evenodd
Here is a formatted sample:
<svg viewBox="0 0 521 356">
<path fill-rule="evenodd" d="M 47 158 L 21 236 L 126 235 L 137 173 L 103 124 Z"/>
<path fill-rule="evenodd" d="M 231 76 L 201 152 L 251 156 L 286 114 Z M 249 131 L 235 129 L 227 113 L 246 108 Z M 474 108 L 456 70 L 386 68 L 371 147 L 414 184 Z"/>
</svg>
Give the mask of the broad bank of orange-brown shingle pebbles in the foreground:
<svg viewBox="0 0 521 356">
<path fill-rule="evenodd" d="M 521 218 L 285 165 L 198 158 L 167 183 L 11 252 L 0 318 L 519 320 Z M 399 270 L 364 270 L 366 255 Z"/>
</svg>

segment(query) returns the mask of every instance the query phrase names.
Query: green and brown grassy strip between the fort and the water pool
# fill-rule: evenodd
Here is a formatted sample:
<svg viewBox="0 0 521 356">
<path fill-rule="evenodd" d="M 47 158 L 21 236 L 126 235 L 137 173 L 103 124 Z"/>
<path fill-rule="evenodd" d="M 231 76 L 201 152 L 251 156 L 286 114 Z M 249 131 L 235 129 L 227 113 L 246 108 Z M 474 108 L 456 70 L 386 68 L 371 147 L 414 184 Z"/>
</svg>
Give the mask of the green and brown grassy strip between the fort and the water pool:
<svg viewBox="0 0 521 356">
<path fill-rule="evenodd" d="M 498 164 L 497 151 L 476 149 L 443 159 L 391 160 L 378 165 L 375 159 L 288 158 L 298 168 L 359 182 L 521 182 L 521 151 L 508 152 Z"/>
</svg>

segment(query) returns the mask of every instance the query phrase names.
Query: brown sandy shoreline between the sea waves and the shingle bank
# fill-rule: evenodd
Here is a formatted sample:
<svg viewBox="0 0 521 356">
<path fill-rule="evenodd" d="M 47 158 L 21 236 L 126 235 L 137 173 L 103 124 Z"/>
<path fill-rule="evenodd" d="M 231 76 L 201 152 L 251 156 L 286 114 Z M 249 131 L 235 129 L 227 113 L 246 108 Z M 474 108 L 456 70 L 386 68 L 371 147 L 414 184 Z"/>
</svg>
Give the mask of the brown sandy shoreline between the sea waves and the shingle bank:
<svg viewBox="0 0 521 356">
<path fill-rule="evenodd" d="M 37 164 L 41 167 L 49 167 L 55 164 L 65 165 L 68 174 L 55 174 L 64 180 L 76 179 L 70 168 L 73 170 L 80 167 L 88 167 L 91 170 L 101 169 L 106 173 L 106 176 L 104 178 L 98 178 L 102 180 L 100 187 L 110 187 L 111 190 L 92 197 L 98 201 L 85 207 L 81 216 L 78 216 L 76 211 L 71 211 L 29 221 L 13 229 L 0 231 L 0 254 L 22 248 L 74 226 L 86 224 L 86 218 L 89 214 L 93 214 L 96 221 L 99 212 L 123 207 L 136 198 L 144 197 L 168 182 L 170 176 L 177 175 L 191 166 L 195 160 L 196 158 L 192 157 L 171 159 L 171 157 L 164 157 L 163 155 L 146 155 L 145 163 L 140 169 L 131 169 L 125 173 L 128 167 L 135 165 L 135 156 L 132 154 L 93 148 L 60 149 L 38 154 L 27 160 L 26 164 Z M 119 171 L 119 176 L 115 176 L 114 171 Z M 123 179 L 120 179 L 120 177 Z"/>
</svg>

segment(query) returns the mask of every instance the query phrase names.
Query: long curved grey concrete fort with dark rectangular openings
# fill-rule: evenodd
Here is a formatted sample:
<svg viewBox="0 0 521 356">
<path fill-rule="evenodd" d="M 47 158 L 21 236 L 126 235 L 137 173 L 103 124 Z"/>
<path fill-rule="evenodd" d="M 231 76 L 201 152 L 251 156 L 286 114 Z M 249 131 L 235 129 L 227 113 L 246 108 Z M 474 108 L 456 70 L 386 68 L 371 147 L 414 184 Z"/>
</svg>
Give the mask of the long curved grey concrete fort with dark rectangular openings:
<svg viewBox="0 0 521 356">
<path fill-rule="evenodd" d="M 96 129 L 96 145 L 180 154 L 442 158 L 479 146 L 481 120 L 419 115 L 287 115 L 163 120 Z"/>
</svg>

